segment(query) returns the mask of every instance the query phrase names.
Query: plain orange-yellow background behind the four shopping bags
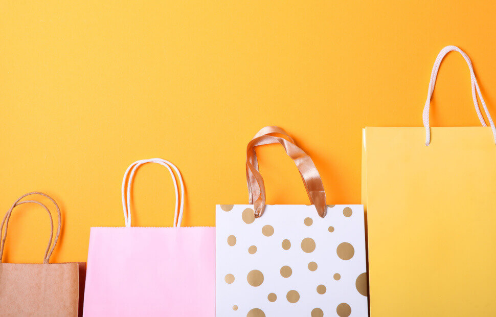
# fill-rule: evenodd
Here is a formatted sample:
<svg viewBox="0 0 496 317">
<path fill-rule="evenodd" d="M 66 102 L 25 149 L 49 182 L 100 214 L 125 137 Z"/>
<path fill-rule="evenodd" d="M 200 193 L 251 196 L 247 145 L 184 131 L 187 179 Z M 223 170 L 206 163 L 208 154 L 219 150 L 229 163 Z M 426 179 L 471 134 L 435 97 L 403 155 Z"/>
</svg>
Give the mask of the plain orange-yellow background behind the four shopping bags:
<svg viewBox="0 0 496 317">
<path fill-rule="evenodd" d="M 183 172 L 184 225 L 214 225 L 216 203 L 246 203 L 245 146 L 279 125 L 314 159 L 328 203 L 360 203 L 365 126 L 421 126 L 438 51 L 474 61 L 496 114 L 491 1 L 7 1 L 0 4 L 0 210 L 53 195 L 55 262 L 84 261 L 89 228 L 122 226 L 121 179 L 135 160 Z M 433 126 L 476 126 L 467 66 L 441 67 Z M 260 149 L 267 203 L 308 203 L 292 161 Z M 140 169 L 133 224 L 171 225 L 164 167 Z M 38 207 L 11 219 L 8 262 L 41 262 Z"/>
</svg>

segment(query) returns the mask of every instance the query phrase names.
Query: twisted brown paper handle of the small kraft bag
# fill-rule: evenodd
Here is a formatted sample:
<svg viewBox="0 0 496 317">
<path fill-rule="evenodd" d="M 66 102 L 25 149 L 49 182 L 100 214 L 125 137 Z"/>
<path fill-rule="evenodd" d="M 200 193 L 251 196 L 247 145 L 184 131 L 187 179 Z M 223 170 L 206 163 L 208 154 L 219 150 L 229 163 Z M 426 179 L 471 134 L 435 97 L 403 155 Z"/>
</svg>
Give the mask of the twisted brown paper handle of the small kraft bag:
<svg viewBox="0 0 496 317">
<path fill-rule="evenodd" d="M 47 206 L 45 206 L 43 203 L 41 203 L 37 200 L 20 201 L 22 198 L 29 196 L 29 195 L 34 195 L 34 194 L 47 197 L 48 199 L 50 199 L 50 201 L 53 202 L 53 204 L 55 205 L 55 208 L 57 209 L 58 227 L 57 227 L 57 233 L 55 234 L 55 238 L 53 238 L 53 218 L 52 218 L 52 214 L 50 213 L 50 210 L 47 208 Z M 2 223 L 0 224 L 0 233 L 2 233 L 2 243 L 0 244 L 0 263 L 2 263 L 2 258 L 3 258 L 3 254 L 4 254 L 4 247 L 5 247 L 5 240 L 7 238 L 7 230 L 9 227 L 9 220 L 10 220 L 10 216 L 12 215 L 12 211 L 14 210 L 15 207 L 22 205 L 23 203 L 28 203 L 28 202 L 37 203 L 44 210 L 46 210 L 48 215 L 49 215 L 50 239 L 48 241 L 47 250 L 45 251 L 45 255 L 43 257 L 43 263 L 49 263 L 50 257 L 52 256 L 53 250 L 55 248 L 55 245 L 57 244 L 57 241 L 58 241 L 58 238 L 60 235 L 60 227 L 62 224 L 62 218 L 61 218 L 61 214 L 60 214 L 60 208 L 57 205 L 57 202 L 55 202 L 55 200 L 52 197 L 50 197 L 49 195 L 43 194 L 41 192 L 31 192 L 31 193 L 27 193 L 27 194 L 22 195 L 12 204 L 12 207 L 10 207 L 9 211 L 5 214 L 4 219 L 2 220 Z M 4 224 L 5 224 L 5 232 L 4 232 Z M 52 239 L 53 239 L 53 244 L 52 244 Z M 50 245 L 52 245 L 51 248 L 50 248 Z"/>
</svg>

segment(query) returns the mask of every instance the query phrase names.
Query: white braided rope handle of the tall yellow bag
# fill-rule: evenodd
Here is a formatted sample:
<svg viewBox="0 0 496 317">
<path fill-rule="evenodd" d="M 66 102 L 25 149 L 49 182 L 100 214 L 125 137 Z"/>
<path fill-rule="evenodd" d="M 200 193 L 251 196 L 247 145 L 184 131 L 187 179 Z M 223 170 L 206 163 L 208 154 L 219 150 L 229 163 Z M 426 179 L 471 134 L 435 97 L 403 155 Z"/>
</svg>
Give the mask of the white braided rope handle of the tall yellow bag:
<svg viewBox="0 0 496 317">
<path fill-rule="evenodd" d="M 425 105 L 424 105 L 424 110 L 422 112 L 422 119 L 425 127 L 425 145 L 429 146 L 431 144 L 431 128 L 429 124 L 429 110 L 431 106 L 431 99 L 432 99 L 432 94 L 434 92 L 434 86 L 436 85 L 436 79 L 437 79 L 437 73 L 439 72 L 439 67 L 441 66 L 441 61 L 443 60 L 444 56 L 448 54 L 449 52 L 456 51 L 460 53 L 465 61 L 467 62 L 468 69 L 470 70 L 470 81 L 471 81 L 471 86 L 472 86 L 472 99 L 474 100 L 474 106 L 477 111 L 477 116 L 479 117 L 479 120 L 481 121 L 481 124 L 483 127 L 487 126 L 486 122 L 484 121 L 484 117 L 482 117 L 481 114 L 481 109 L 479 106 L 479 102 L 477 101 L 477 96 L 479 96 L 479 99 L 481 100 L 482 107 L 484 108 L 484 112 L 486 114 L 487 119 L 489 120 L 489 125 L 491 126 L 492 129 L 492 134 L 494 137 L 494 143 L 496 143 L 496 127 L 494 127 L 494 123 L 492 122 L 491 115 L 489 114 L 489 110 L 486 107 L 486 102 L 484 101 L 484 98 L 482 98 L 482 93 L 481 89 L 479 88 L 479 83 L 477 82 L 476 75 L 474 73 L 474 67 L 472 67 L 472 62 L 470 61 L 470 58 L 468 57 L 465 52 L 460 50 L 458 47 L 450 45 L 445 48 L 443 48 L 437 58 L 436 61 L 434 62 L 434 66 L 432 68 L 432 73 L 431 73 L 431 81 L 429 82 L 429 90 L 427 91 L 427 100 L 425 100 Z M 477 93 L 477 95 L 476 95 Z"/>
</svg>

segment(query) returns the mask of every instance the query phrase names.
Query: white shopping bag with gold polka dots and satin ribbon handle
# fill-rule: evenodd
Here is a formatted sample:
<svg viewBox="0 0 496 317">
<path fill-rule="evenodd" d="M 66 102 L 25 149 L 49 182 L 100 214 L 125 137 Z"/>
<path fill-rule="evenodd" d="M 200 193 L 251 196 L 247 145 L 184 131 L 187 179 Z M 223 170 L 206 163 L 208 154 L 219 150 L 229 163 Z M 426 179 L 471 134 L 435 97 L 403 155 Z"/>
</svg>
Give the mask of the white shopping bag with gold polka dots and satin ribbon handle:
<svg viewBox="0 0 496 317">
<path fill-rule="evenodd" d="M 273 143 L 297 164 L 313 205 L 265 205 L 255 147 Z M 367 316 L 363 206 L 326 206 L 312 160 L 278 127 L 247 146 L 246 178 L 249 205 L 216 207 L 217 316 Z"/>
</svg>

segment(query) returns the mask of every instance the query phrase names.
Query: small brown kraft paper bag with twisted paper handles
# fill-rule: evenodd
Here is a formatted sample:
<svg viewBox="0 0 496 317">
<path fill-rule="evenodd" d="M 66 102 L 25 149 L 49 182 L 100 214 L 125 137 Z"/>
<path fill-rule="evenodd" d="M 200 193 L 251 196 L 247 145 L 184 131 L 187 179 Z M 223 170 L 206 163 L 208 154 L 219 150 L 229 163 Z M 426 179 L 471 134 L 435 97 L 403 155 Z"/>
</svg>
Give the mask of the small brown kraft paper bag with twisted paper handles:
<svg viewBox="0 0 496 317">
<path fill-rule="evenodd" d="M 52 215 L 47 206 L 37 200 L 22 200 L 24 197 L 33 194 L 47 197 L 54 203 L 58 216 L 55 237 L 53 236 Z M 50 219 L 51 234 L 42 264 L 0 262 L 0 315 L 77 316 L 79 298 L 78 263 L 49 263 L 61 228 L 60 209 L 50 196 L 40 192 L 31 192 L 22 195 L 13 203 L 0 225 L 0 232 L 2 233 L 0 259 L 4 252 L 12 211 L 15 207 L 24 203 L 36 203 L 47 211 Z"/>
</svg>

